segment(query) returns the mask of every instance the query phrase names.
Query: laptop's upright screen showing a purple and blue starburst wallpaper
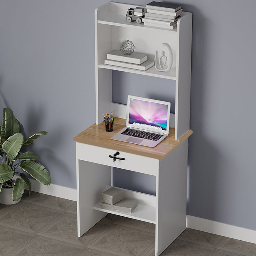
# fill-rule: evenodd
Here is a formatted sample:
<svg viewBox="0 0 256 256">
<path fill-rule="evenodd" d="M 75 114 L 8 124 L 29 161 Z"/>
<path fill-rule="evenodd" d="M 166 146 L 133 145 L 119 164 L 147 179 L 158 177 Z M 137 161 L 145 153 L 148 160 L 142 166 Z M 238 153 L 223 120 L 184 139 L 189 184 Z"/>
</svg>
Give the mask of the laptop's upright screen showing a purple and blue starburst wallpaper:
<svg viewBox="0 0 256 256">
<path fill-rule="evenodd" d="M 161 130 L 164 133 L 169 132 L 169 102 L 128 96 L 128 105 L 129 125 L 153 131 Z"/>
</svg>

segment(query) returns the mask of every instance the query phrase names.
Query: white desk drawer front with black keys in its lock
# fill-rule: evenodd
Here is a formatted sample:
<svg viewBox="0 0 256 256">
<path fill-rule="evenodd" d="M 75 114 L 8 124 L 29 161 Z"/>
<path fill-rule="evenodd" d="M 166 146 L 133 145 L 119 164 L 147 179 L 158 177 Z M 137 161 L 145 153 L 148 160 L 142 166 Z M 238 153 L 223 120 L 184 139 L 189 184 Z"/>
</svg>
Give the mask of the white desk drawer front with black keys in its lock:
<svg viewBox="0 0 256 256">
<path fill-rule="evenodd" d="M 116 152 L 119 152 L 116 157 L 124 158 L 124 160 L 116 159 L 116 161 L 113 161 L 114 158 L 109 157 L 114 156 Z M 108 148 L 101 148 L 79 142 L 76 142 L 76 159 L 155 176 L 157 175 L 159 168 L 159 160 L 154 158 Z"/>
</svg>

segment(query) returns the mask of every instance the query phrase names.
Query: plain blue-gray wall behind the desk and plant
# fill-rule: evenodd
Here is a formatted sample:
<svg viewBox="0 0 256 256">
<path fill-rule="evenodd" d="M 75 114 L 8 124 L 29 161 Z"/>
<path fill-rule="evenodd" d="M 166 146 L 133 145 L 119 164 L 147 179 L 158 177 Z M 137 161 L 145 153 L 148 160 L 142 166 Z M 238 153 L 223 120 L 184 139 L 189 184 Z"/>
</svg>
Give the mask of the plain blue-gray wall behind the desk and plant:
<svg viewBox="0 0 256 256">
<path fill-rule="evenodd" d="M 28 136 L 48 131 L 31 150 L 69 188 L 73 137 L 95 123 L 94 9 L 106 2 L 0 0 L 0 109 Z M 256 230 L 256 1 L 179 3 L 193 12 L 187 213 Z"/>
</svg>

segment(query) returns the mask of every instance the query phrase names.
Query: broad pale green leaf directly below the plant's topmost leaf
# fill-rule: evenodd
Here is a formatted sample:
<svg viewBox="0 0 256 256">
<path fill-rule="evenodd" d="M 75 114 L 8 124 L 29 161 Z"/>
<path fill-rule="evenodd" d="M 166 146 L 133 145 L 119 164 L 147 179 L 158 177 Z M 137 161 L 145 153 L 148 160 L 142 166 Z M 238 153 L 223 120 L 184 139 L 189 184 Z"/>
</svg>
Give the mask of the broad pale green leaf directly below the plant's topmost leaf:
<svg viewBox="0 0 256 256">
<path fill-rule="evenodd" d="M 15 133 L 4 141 L 2 148 L 13 159 L 19 153 L 23 140 L 22 133 Z"/>
</svg>

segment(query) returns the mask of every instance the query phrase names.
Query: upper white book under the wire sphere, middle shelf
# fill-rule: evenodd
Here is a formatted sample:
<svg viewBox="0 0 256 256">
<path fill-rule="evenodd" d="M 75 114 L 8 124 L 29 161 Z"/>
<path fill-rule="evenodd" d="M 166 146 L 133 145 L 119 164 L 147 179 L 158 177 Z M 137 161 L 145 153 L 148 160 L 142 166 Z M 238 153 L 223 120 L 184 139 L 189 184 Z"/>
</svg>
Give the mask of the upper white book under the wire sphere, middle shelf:
<svg viewBox="0 0 256 256">
<path fill-rule="evenodd" d="M 141 64 L 148 60 L 148 55 L 140 52 L 133 52 L 132 54 L 124 54 L 120 50 L 113 50 L 107 53 L 108 60 L 117 60 L 133 64 Z"/>
</svg>

